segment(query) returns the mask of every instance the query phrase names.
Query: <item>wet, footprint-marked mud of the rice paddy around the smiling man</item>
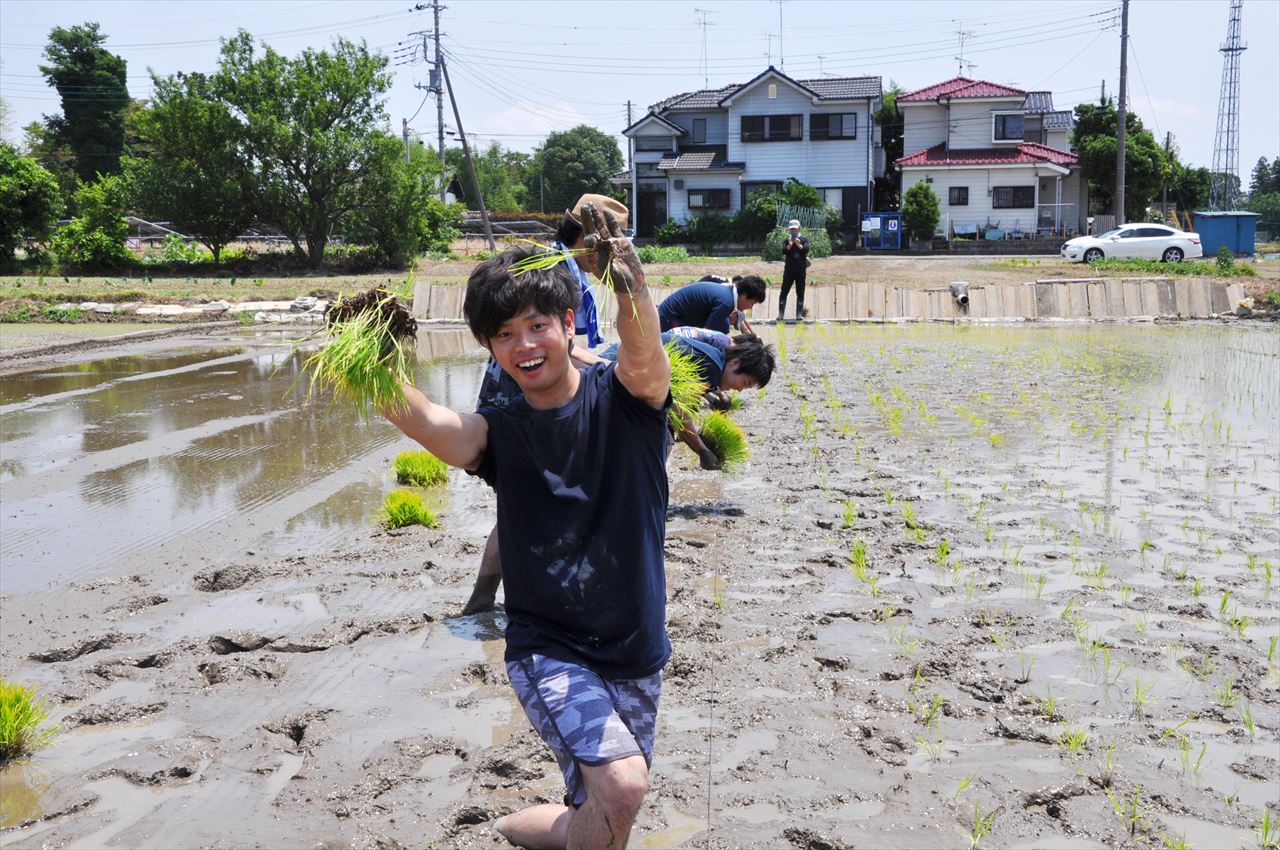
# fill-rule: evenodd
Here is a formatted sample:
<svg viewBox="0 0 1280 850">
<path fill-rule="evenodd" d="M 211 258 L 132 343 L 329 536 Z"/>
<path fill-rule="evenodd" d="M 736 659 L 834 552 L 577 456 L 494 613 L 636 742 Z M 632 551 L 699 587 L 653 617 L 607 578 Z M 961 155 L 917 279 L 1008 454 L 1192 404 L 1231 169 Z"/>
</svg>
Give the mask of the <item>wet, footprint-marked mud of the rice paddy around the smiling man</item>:
<svg viewBox="0 0 1280 850">
<path fill-rule="evenodd" d="M 1280 805 L 1280 335 L 771 333 L 781 369 L 735 415 L 748 467 L 704 472 L 682 447 L 668 467 L 675 652 L 632 846 L 954 847 L 987 818 L 986 846 L 1256 846 Z M 234 373 L 244 351 L 141 352 L 128 374 Z M 466 406 L 480 361 L 449 357 L 420 383 Z M 325 430 L 323 406 L 243 373 L 189 421 L 50 448 L 60 417 L 116 415 L 97 396 L 127 375 L 91 374 L 5 378 L 0 661 L 64 727 L 0 776 L 6 846 L 502 847 L 495 817 L 559 799 L 500 607 L 457 616 L 493 521 L 481 484 L 451 474 L 440 530 L 380 531 L 410 443 L 340 412 Z M 189 470 L 155 453 L 202 440 L 221 453 Z M 276 451 L 307 460 L 246 460 Z M 125 490 L 204 484 L 119 513 L 73 499 L 140 463 L 159 471 Z M 218 529 L 170 521 L 191 499 Z M 82 540 L 28 540 L 51 529 Z M 119 552 L 86 561 L 96 545 Z"/>
</svg>

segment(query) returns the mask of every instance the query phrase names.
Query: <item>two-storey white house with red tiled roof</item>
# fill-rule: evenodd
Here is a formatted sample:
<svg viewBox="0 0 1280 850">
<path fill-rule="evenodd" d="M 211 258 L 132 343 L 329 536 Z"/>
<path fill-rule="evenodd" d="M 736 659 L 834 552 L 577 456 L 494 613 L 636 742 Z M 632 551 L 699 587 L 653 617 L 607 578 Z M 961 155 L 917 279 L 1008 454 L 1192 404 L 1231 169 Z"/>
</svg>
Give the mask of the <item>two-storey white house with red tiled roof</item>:
<svg viewBox="0 0 1280 850">
<path fill-rule="evenodd" d="M 938 233 L 1087 233 L 1088 184 L 1071 152 L 1074 120 L 1047 91 L 956 77 L 901 95 L 902 192 L 931 183 Z"/>
</svg>

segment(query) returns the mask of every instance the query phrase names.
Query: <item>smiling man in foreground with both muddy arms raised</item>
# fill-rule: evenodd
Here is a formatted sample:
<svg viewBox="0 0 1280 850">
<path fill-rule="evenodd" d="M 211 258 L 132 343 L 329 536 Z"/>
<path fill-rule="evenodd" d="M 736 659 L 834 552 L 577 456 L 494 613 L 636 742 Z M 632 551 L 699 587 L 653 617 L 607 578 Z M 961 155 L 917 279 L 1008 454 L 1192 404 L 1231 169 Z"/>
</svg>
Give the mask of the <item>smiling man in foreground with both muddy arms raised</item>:
<svg viewBox="0 0 1280 850">
<path fill-rule="evenodd" d="M 666 631 L 669 364 L 644 271 L 616 219 L 590 205 L 595 266 L 612 266 L 616 364 L 570 362 L 579 285 L 563 264 L 480 264 L 463 312 L 520 384 L 507 408 L 458 413 L 404 387 L 384 415 L 498 497 L 507 673 L 564 776 L 563 804 L 500 818 L 531 847 L 623 847 L 648 789 Z"/>
</svg>

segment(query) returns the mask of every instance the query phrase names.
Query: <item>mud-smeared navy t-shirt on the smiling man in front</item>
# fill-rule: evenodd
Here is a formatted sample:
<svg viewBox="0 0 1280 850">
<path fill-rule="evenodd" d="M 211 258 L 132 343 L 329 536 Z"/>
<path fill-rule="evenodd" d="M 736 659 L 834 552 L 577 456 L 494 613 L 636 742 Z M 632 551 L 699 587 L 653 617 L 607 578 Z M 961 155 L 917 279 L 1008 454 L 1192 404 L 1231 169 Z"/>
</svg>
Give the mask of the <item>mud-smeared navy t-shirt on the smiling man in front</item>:
<svg viewBox="0 0 1280 850">
<path fill-rule="evenodd" d="M 662 670 L 666 407 L 595 364 L 562 407 L 521 397 L 477 412 L 489 437 L 475 474 L 498 495 L 507 661 L 539 653 L 604 678 Z"/>
</svg>

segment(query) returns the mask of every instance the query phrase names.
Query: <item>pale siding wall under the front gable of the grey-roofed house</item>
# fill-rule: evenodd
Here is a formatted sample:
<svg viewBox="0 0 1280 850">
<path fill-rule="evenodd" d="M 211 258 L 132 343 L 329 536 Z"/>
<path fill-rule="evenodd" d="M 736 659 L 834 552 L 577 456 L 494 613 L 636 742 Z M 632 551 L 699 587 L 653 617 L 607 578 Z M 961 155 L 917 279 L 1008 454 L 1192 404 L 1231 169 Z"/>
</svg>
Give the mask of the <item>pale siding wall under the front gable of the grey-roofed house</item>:
<svg viewBox="0 0 1280 850">
<path fill-rule="evenodd" d="M 728 111 L 728 160 L 745 163 L 744 180 L 786 180 L 794 177 L 812 186 L 867 186 L 867 132 L 870 122 L 867 101 L 840 106 L 814 106 L 813 100 L 786 83 L 777 83 L 778 96 L 769 100 L 769 81 L 733 99 Z M 873 105 L 874 109 L 874 105 Z M 858 113 L 858 138 L 810 142 L 810 113 Z M 742 142 L 744 115 L 801 115 L 803 138 L 796 142 Z M 708 131 L 709 132 L 709 131 Z"/>
</svg>

